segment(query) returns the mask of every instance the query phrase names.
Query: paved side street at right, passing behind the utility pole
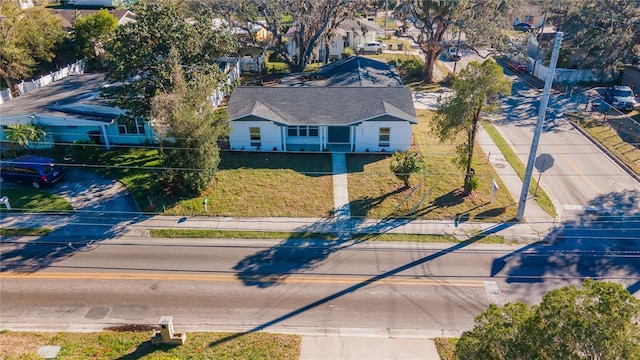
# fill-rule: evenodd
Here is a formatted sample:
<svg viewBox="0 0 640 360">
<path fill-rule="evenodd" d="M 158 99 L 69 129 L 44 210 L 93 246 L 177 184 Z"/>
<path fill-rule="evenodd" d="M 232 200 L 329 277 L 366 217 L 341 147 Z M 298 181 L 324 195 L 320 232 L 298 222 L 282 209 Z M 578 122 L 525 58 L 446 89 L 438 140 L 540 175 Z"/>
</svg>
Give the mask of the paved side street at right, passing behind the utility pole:
<svg viewBox="0 0 640 360">
<path fill-rule="evenodd" d="M 539 95 L 540 91 L 514 77 L 513 96 L 503 104 L 505 117 L 495 123 L 524 164 L 531 148 Z M 549 105 L 537 154 L 550 154 L 554 159 L 553 167 L 542 175 L 541 186 L 552 197 L 559 220 L 576 220 L 589 209 L 624 208 L 618 198 L 637 197 L 640 184 L 566 120 L 563 114 L 576 109 L 572 99 L 554 95 Z M 538 171 L 534 174 L 539 176 Z"/>
</svg>

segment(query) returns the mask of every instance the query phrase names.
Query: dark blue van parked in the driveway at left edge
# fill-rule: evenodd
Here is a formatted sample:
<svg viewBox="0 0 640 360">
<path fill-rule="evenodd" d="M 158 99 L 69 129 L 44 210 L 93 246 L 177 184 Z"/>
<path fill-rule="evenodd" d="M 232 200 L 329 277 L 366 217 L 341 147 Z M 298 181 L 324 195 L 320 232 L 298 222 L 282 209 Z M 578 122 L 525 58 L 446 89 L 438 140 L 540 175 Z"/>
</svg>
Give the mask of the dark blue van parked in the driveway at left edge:
<svg viewBox="0 0 640 360">
<path fill-rule="evenodd" d="M 51 185 L 62 179 L 64 169 L 54 160 L 42 156 L 20 156 L 0 163 L 0 184 L 5 181 L 31 184 L 34 188 Z"/>
</svg>

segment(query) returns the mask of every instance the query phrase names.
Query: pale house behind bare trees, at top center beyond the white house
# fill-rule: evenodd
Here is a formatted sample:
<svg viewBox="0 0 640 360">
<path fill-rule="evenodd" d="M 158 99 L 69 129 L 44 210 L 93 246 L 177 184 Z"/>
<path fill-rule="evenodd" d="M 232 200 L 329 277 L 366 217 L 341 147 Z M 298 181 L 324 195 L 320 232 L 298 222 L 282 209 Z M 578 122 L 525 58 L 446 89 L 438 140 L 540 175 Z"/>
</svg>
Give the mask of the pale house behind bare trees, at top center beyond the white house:
<svg viewBox="0 0 640 360">
<path fill-rule="evenodd" d="M 297 31 L 297 26 L 293 25 L 286 33 L 287 53 L 290 56 L 295 56 L 298 53 Z M 328 40 L 325 37 L 318 41 L 314 53 L 317 55 L 317 60 L 342 59 L 345 48 L 350 47 L 355 50 L 356 46 L 376 41 L 378 37 L 382 36 L 384 36 L 384 31 L 372 21 L 362 18 L 345 20 L 336 29 L 333 29 L 333 34 Z"/>
</svg>

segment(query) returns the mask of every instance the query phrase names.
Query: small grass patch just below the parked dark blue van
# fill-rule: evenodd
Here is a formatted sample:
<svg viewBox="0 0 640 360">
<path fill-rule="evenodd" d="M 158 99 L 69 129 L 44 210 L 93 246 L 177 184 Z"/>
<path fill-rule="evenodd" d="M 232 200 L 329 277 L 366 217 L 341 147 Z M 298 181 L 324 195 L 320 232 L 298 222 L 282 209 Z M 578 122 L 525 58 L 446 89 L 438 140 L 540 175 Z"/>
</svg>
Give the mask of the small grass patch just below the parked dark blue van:
<svg viewBox="0 0 640 360">
<path fill-rule="evenodd" d="M 0 196 L 9 198 L 11 211 L 17 212 L 71 212 L 73 207 L 62 196 L 51 194 L 46 189 L 32 189 L 26 185 L 1 190 Z M 0 204 L 0 212 L 6 212 Z"/>
</svg>

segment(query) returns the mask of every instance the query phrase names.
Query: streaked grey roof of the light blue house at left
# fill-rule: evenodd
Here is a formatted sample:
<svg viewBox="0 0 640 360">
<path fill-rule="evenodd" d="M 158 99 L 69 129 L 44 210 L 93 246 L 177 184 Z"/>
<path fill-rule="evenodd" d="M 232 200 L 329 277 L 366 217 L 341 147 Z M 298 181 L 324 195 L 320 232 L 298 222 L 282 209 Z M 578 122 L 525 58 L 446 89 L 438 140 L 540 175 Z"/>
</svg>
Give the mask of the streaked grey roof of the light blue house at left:
<svg viewBox="0 0 640 360">
<path fill-rule="evenodd" d="M 110 106 L 100 97 L 103 85 L 106 81 L 102 73 L 67 76 L 0 104 L 0 119 L 4 124 L 12 122 L 11 118 L 37 114 L 69 120 L 111 122 L 122 110 Z"/>
</svg>

